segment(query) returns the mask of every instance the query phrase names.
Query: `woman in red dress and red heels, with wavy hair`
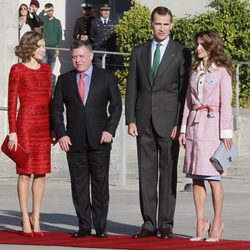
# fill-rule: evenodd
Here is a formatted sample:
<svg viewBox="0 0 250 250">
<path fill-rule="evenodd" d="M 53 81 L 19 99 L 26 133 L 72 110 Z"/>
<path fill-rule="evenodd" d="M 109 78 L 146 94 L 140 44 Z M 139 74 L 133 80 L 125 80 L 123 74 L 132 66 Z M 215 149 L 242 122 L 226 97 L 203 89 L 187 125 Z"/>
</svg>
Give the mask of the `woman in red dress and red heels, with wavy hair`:
<svg viewBox="0 0 250 250">
<path fill-rule="evenodd" d="M 45 175 L 51 172 L 51 69 L 48 64 L 39 62 L 45 55 L 45 42 L 36 32 L 23 35 L 16 47 L 16 55 L 22 63 L 14 64 L 9 74 L 8 147 L 16 150 L 19 143 L 31 154 L 24 167 L 16 166 L 22 233 L 24 236 L 43 236 L 39 223 L 40 207 Z M 32 174 L 32 214 L 29 217 L 28 197 Z"/>
</svg>

